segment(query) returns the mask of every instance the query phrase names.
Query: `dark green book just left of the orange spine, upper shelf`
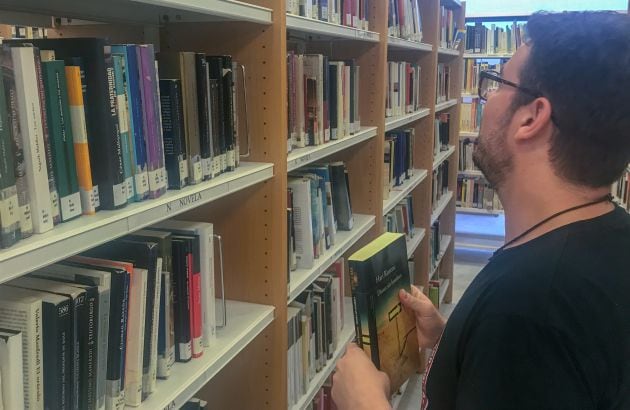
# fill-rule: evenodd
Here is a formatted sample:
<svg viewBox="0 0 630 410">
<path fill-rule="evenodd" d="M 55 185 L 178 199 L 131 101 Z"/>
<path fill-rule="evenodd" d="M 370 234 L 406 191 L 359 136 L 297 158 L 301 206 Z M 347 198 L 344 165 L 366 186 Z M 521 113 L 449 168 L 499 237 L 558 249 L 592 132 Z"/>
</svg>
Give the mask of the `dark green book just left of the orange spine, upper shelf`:
<svg viewBox="0 0 630 410">
<path fill-rule="evenodd" d="M 74 138 L 64 62 L 62 60 L 42 61 L 42 77 L 61 220 L 69 221 L 81 215 L 83 208 L 74 159 Z"/>
</svg>

